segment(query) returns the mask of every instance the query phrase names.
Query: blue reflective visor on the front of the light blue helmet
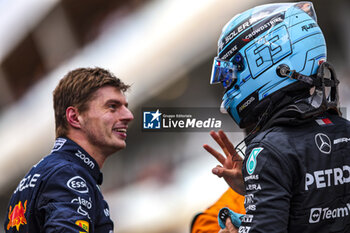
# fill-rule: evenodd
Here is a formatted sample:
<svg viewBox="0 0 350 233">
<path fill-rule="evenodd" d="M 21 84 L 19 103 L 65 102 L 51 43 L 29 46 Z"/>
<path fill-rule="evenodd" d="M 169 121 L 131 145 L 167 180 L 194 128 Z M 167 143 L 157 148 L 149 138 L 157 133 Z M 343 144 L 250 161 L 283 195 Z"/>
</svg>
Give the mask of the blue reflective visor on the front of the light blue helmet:
<svg viewBox="0 0 350 233">
<path fill-rule="evenodd" d="M 236 72 L 237 68 L 232 62 L 215 57 L 210 84 L 222 83 L 227 88 L 237 82 Z"/>
</svg>

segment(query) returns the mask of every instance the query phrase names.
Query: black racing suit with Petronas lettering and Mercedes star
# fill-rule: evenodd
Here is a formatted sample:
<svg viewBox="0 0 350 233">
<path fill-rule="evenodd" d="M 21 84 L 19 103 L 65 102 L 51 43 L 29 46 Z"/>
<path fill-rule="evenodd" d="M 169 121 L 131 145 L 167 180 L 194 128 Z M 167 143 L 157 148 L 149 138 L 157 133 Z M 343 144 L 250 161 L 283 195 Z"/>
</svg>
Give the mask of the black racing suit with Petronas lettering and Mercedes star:
<svg viewBox="0 0 350 233">
<path fill-rule="evenodd" d="M 242 169 L 240 233 L 350 232 L 349 121 L 272 126 L 248 143 Z"/>
</svg>

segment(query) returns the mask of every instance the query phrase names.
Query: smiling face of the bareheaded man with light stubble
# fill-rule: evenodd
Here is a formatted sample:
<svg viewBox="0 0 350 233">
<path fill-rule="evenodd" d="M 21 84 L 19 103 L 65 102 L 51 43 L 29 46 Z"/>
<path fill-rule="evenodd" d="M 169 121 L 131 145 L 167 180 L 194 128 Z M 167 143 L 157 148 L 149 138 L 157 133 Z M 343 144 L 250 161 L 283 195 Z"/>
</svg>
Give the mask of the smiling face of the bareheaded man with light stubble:
<svg viewBox="0 0 350 233">
<path fill-rule="evenodd" d="M 81 130 L 89 144 L 104 155 L 126 146 L 128 123 L 134 119 L 124 94 L 116 87 L 98 89 L 80 116 Z"/>
</svg>

